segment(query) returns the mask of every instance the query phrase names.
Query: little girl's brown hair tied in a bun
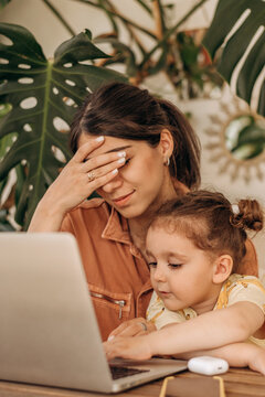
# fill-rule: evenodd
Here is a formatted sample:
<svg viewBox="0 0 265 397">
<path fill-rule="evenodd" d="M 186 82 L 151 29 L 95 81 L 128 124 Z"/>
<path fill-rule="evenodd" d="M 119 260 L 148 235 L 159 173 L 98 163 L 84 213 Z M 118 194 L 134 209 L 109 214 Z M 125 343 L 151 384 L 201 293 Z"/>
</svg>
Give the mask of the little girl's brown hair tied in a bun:
<svg viewBox="0 0 265 397">
<path fill-rule="evenodd" d="M 190 192 L 165 204 L 150 227 L 180 232 L 210 255 L 231 255 L 233 272 L 245 256 L 246 229 L 263 228 L 263 212 L 256 200 L 240 200 L 231 205 L 222 193 Z"/>
</svg>

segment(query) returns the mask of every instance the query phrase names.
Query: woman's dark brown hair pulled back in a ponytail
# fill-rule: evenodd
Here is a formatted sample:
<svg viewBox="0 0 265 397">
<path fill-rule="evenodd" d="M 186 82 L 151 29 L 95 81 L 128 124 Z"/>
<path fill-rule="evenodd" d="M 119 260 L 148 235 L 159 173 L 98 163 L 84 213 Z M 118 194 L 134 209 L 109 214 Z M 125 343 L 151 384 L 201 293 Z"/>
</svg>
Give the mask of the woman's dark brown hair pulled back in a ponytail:
<svg viewBox="0 0 265 397">
<path fill-rule="evenodd" d="M 167 128 L 174 148 L 170 174 L 190 189 L 200 185 L 200 143 L 184 115 L 171 103 L 155 98 L 147 89 L 124 83 L 107 84 L 89 94 L 71 127 L 71 149 L 78 147 L 81 133 L 142 140 L 151 147 Z"/>
</svg>

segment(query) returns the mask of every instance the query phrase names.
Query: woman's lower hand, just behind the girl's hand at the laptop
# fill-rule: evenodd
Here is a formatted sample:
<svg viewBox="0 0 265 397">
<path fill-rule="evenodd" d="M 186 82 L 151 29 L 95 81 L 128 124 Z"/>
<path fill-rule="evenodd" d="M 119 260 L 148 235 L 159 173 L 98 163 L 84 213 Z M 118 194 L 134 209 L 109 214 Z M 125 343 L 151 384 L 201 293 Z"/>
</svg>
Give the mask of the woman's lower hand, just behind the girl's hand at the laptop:
<svg viewBox="0 0 265 397">
<path fill-rule="evenodd" d="M 116 336 L 136 336 L 145 335 L 149 332 L 156 331 L 156 325 L 148 322 L 144 318 L 137 318 L 123 322 L 117 326 L 108 336 L 108 341 L 112 341 Z"/>
</svg>

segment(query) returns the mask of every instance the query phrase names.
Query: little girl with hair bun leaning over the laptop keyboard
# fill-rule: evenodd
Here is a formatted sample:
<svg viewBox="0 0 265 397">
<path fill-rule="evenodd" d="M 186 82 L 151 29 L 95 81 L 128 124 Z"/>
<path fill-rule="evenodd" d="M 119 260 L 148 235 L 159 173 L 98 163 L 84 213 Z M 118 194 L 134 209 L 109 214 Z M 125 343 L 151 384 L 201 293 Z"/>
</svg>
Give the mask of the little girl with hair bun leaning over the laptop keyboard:
<svg viewBox="0 0 265 397">
<path fill-rule="evenodd" d="M 145 326 L 141 319 L 121 324 L 105 343 L 107 357 L 206 354 L 265 375 L 265 289 L 257 278 L 236 273 L 245 229 L 262 228 L 255 200 L 234 207 L 221 193 L 198 191 L 166 204 L 146 240 L 153 287 L 148 331 L 157 331 L 117 336 L 137 321 Z"/>
</svg>

